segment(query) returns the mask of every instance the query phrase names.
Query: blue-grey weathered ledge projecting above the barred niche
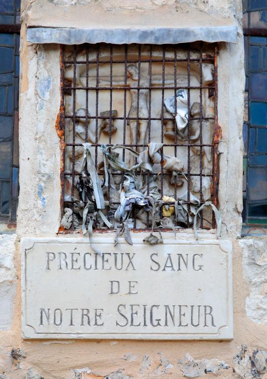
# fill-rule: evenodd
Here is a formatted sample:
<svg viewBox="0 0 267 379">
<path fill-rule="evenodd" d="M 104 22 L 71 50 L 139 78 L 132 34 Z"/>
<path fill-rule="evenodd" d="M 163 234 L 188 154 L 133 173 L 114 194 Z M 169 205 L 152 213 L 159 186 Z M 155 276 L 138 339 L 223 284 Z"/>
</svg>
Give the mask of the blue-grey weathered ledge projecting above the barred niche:
<svg viewBox="0 0 267 379">
<path fill-rule="evenodd" d="M 27 41 L 33 43 L 184 43 L 194 41 L 236 43 L 236 26 L 143 29 L 29 28 Z"/>
</svg>

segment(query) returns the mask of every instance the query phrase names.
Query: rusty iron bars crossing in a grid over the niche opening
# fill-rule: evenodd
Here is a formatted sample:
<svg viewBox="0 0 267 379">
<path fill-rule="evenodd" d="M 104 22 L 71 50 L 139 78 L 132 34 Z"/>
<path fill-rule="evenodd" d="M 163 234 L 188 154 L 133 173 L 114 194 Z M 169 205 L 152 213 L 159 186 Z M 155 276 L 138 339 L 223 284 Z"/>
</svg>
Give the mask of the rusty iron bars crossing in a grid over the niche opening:
<svg viewBox="0 0 267 379">
<path fill-rule="evenodd" d="M 93 45 L 92 45 L 93 46 Z M 212 198 L 213 202 L 216 205 L 218 203 L 217 199 L 217 189 L 218 189 L 218 143 L 221 138 L 221 128 L 218 125 L 218 114 L 217 114 L 217 100 L 218 100 L 218 83 L 217 83 L 217 54 L 218 54 L 218 49 L 217 47 L 214 50 L 214 57 L 206 57 L 206 55 L 203 52 L 203 47 L 202 44 L 200 44 L 200 56 L 198 58 L 191 58 L 190 56 L 190 44 L 188 44 L 187 48 L 187 58 L 186 59 L 178 59 L 177 58 L 177 47 L 175 46 L 174 48 L 174 57 L 172 59 L 166 58 L 166 47 L 165 45 L 162 46 L 162 59 L 153 59 L 153 46 L 150 45 L 150 51 L 149 51 L 149 59 L 142 57 L 141 55 L 141 45 L 138 45 L 138 59 L 133 60 L 133 59 L 128 59 L 128 45 L 124 46 L 124 60 L 114 60 L 113 59 L 113 46 L 110 45 L 110 59 L 108 60 L 101 60 L 100 59 L 100 44 L 97 44 L 93 48 L 96 48 L 96 59 L 94 61 L 89 60 L 89 49 L 92 49 L 92 46 L 89 45 L 86 47 L 86 61 L 78 61 L 77 58 L 77 48 L 76 46 L 73 46 L 73 61 L 68 61 L 64 60 L 64 47 L 61 47 L 61 54 L 60 54 L 60 59 L 61 59 L 61 108 L 60 108 L 60 113 L 59 113 L 59 122 L 58 122 L 58 133 L 61 133 L 61 128 L 62 130 L 65 131 L 65 118 L 69 119 L 70 122 L 72 123 L 72 128 L 73 128 L 73 134 L 72 134 L 72 143 L 65 143 L 65 135 L 63 132 L 63 144 L 61 145 L 61 148 L 63 147 L 63 153 L 65 151 L 65 147 L 71 147 L 72 148 L 72 169 L 71 172 L 64 172 L 64 155 L 62 155 L 62 163 L 63 163 L 63 169 L 61 173 L 61 182 L 62 182 L 62 198 L 61 198 L 61 205 L 62 209 L 64 207 L 64 176 L 70 176 L 71 177 L 71 195 L 74 195 L 74 186 L 75 186 L 75 181 L 77 179 L 77 176 L 80 175 L 80 173 L 75 171 L 75 147 L 81 147 L 82 144 L 78 144 L 75 141 L 75 126 L 76 126 L 76 120 L 79 118 L 85 118 L 85 140 L 88 140 L 88 127 L 89 127 L 89 121 L 90 119 L 94 119 L 96 122 L 96 133 L 95 133 L 95 143 L 92 143 L 92 146 L 95 147 L 95 152 L 96 152 L 96 157 L 95 157 L 95 165 L 96 168 L 98 169 L 98 148 L 100 147 L 99 143 L 99 120 L 108 120 L 109 121 L 109 131 L 108 131 L 108 144 L 107 146 L 113 146 L 112 144 L 112 125 L 114 120 L 123 120 L 123 135 L 122 135 L 122 146 L 124 147 L 131 147 L 135 149 L 135 151 L 138 150 L 138 148 L 147 148 L 148 144 L 151 141 L 151 121 L 152 120 L 158 120 L 161 121 L 161 142 L 163 143 L 163 149 L 161 150 L 161 171 L 160 171 L 160 190 L 161 190 L 161 195 L 163 195 L 163 178 L 164 177 L 169 177 L 169 173 L 164 172 L 164 148 L 166 147 L 173 147 L 174 148 L 174 156 L 177 156 L 177 148 L 178 147 L 186 147 L 187 148 L 187 172 L 184 173 L 186 175 L 188 182 L 187 182 L 187 201 L 185 201 L 185 204 L 188 206 L 188 212 L 190 211 L 190 178 L 193 176 L 200 177 L 200 204 L 204 203 L 203 199 L 203 193 L 202 193 L 202 178 L 203 177 L 212 177 L 213 182 L 212 182 Z M 147 55 L 146 55 L 147 57 Z M 174 66 L 174 85 L 173 86 L 166 86 L 165 85 L 165 76 L 166 76 L 166 63 L 167 62 L 172 62 Z M 179 63 L 180 62 L 186 62 L 187 63 L 187 85 L 177 85 L 177 70 L 179 68 Z M 191 63 L 196 62 L 197 65 L 199 66 L 199 73 L 200 73 L 200 85 L 198 86 L 193 86 L 191 85 Z M 202 78 L 202 64 L 204 62 L 211 62 L 214 63 L 214 85 L 209 85 L 209 86 L 203 86 L 203 78 Z M 69 82 L 66 81 L 64 78 L 64 63 L 66 64 L 72 64 L 73 65 L 73 84 L 72 86 L 70 85 Z M 109 64 L 110 65 L 110 83 L 109 86 L 100 86 L 100 64 Z M 124 65 L 124 84 L 122 86 L 114 86 L 113 85 L 113 64 L 115 63 L 121 63 Z M 137 71 L 138 71 L 138 76 L 136 79 L 136 86 L 128 86 L 127 85 L 127 76 L 128 76 L 128 64 L 130 63 L 136 63 L 138 64 L 137 66 Z M 140 85 L 140 78 L 141 78 L 141 64 L 142 63 L 148 63 L 148 74 L 149 74 L 149 84 L 148 86 L 141 86 Z M 162 63 L 162 84 L 154 86 L 152 83 L 152 65 L 153 63 Z M 76 66 L 77 64 L 85 64 L 86 65 L 86 85 L 84 87 L 81 86 L 76 86 Z M 96 70 L 96 76 L 94 78 L 96 79 L 96 86 L 90 86 L 89 85 L 89 65 L 94 64 L 95 70 Z M 92 76 L 91 76 L 92 77 Z M 164 143 L 164 133 L 165 133 L 165 121 L 166 120 L 173 120 L 173 118 L 170 117 L 165 117 L 164 115 L 164 98 L 165 98 L 165 91 L 166 90 L 173 90 L 174 95 L 176 95 L 176 91 L 178 89 L 187 89 L 188 90 L 188 128 L 187 128 L 187 141 L 184 141 L 184 143 L 177 143 L 177 130 L 176 130 L 176 125 L 174 121 L 174 143 L 172 144 L 167 144 Z M 84 90 L 86 94 L 86 113 L 85 115 L 77 115 L 76 114 L 76 91 L 77 90 Z M 109 115 L 107 116 L 101 116 L 99 114 L 99 96 L 100 96 L 100 91 L 109 91 L 110 93 L 110 101 L 109 101 Z M 113 90 L 122 90 L 124 95 L 123 95 L 123 116 L 113 116 L 112 115 L 112 103 L 113 103 Z M 137 92 L 137 106 L 136 106 L 136 117 L 130 117 L 129 114 L 127 115 L 127 91 L 129 90 L 134 90 Z M 139 91 L 140 90 L 148 90 L 148 117 L 141 117 L 139 115 Z M 153 90 L 161 90 L 162 96 L 161 96 L 161 115 L 160 117 L 151 117 L 151 108 L 152 108 L 152 91 Z M 192 90 L 198 90 L 200 93 L 200 116 L 199 117 L 191 117 L 190 114 L 190 92 Z M 209 93 L 212 92 L 212 95 L 214 96 L 214 117 L 204 117 L 203 115 L 203 92 L 202 91 L 208 90 Z M 91 115 L 89 114 L 89 103 L 90 106 L 92 107 L 92 98 L 90 97 L 91 92 L 94 91 L 95 93 L 95 109 L 96 109 L 96 115 Z M 71 95 L 73 96 L 73 103 L 72 103 L 72 114 L 64 114 L 64 95 Z M 93 97 L 94 99 L 94 97 Z M 177 111 L 177 103 L 176 101 L 174 102 L 174 107 L 175 107 L 175 114 Z M 148 121 L 148 130 L 147 130 L 147 139 L 145 143 L 143 144 L 138 144 L 138 128 L 136 127 L 135 131 L 135 136 L 133 136 L 133 143 L 127 144 L 127 121 L 129 120 L 134 120 L 136 122 L 136 126 L 138 126 L 139 122 L 141 120 L 146 120 Z M 191 143 L 190 140 L 190 122 L 193 120 L 199 120 L 199 125 L 200 125 L 200 141 L 198 144 L 196 143 Z M 215 123 L 214 127 L 214 133 L 213 133 L 213 140 L 212 144 L 203 144 L 202 143 L 202 129 L 204 127 L 203 125 L 203 120 L 213 120 Z M 135 143 L 134 143 L 135 139 Z M 85 142 L 86 142 L 85 141 Z M 199 173 L 192 173 L 191 172 L 191 147 L 197 147 L 200 149 L 200 157 L 202 156 L 202 148 L 203 147 L 210 147 L 212 149 L 212 162 L 213 162 L 213 167 L 212 167 L 212 174 L 206 175 L 202 173 L 202 160 L 200 158 L 200 172 Z M 123 161 L 125 161 L 125 149 L 123 149 Z M 135 158 L 136 162 L 136 158 Z M 145 175 L 147 177 L 147 193 L 149 193 L 149 176 L 150 175 L 157 175 L 159 173 L 142 173 L 142 175 Z M 103 172 L 99 172 L 99 175 L 103 175 Z M 118 173 L 115 172 L 113 173 L 115 176 L 121 176 L 122 180 L 124 177 L 123 173 Z M 182 174 L 178 174 L 178 176 L 182 177 Z M 175 183 L 174 183 L 174 197 L 175 199 L 177 198 L 177 178 L 175 177 Z M 111 202 L 110 201 L 110 180 L 108 181 L 108 189 L 107 189 L 107 199 L 109 202 L 108 205 L 108 210 L 110 210 L 110 205 L 111 204 L 119 204 L 119 202 Z M 73 210 L 73 204 L 74 201 L 65 201 L 66 204 L 70 204 Z M 171 204 L 171 202 L 170 202 Z M 162 216 L 162 210 L 161 210 L 161 216 Z M 134 230 L 136 230 L 136 214 L 135 211 L 133 211 L 133 217 L 134 217 Z M 207 220 L 205 220 L 207 221 Z M 214 217 L 212 219 L 213 227 L 214 227 Z M 145 229 L 139 229 L 139 230 L 149 230 L 149 215 L 147 214 L 147 220 L 146 220 L 146 226 L 147 228 Z M 189 223 L 189 217 L 187 218 L 187 227 L 190 227 Z M 203 228 L 203 216 L 202 214 L 200 215 L 200 227 Z M 168 229 L 167 229 L 168 230 Z M 74 231 L 73 225 L 72 225 L 72 231 Z M 61 232 L 63 232 L 61 230 Z M 68 231 L 67 231 L 68 232 Z"/>
</svg>

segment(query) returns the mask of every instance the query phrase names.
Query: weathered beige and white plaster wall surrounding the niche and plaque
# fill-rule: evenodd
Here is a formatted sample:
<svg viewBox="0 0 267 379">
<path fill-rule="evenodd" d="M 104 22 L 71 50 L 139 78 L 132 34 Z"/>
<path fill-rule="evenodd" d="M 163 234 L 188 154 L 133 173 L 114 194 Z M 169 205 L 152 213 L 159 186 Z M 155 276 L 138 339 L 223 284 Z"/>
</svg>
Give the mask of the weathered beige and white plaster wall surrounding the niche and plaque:
<svg viewBox="0 0 267 379">
<path fill-rule="evenodd" d="M 89 5 L 92 8 L 87 8 Z M 219 208 L 222 238 L 233 244 L 234 339 L 231 341 L 24 341 L 21 338 L 20 238 L 57 236 L 61 189 L 59 137 L 55 128 L 60 107 L 59 46 L 27 43 L 26 27 L 42 17 L 43 25 L 69 27 L 71 13 L 78 14 L 81 24 L 86 24 L 86 9 L 104 12 L 106 20 L 109 13 L 116 15 L 118 10 L 122 11 L 122 27 L 133 22 L 133 14 L 145 14 L 147 10 L 157 15 L 151 23 L 160 24 L 168 12 L 181 11 L 185 15 L 189 12 L 193 20 L 197 14 L 203 20 L 207 14 L 228 17 L 238 27 L 237 43 L 220 43 L 218 59 L 218 115 L 223 132 L 219 145 Z M 217 375 L 260 379 L 266 376 L 267 245 L 264 238 L 239 239 L 244 90 L 241 11 L 240 0 L 23 1 L 20 197 L 17 233 L 0 237 L 0 379 Z M 179 234 L 180 238 L 194 238 L 192 230 Z M 205 238 L 215 237 L 212 231 L 205 234 Z"/>
</svg>

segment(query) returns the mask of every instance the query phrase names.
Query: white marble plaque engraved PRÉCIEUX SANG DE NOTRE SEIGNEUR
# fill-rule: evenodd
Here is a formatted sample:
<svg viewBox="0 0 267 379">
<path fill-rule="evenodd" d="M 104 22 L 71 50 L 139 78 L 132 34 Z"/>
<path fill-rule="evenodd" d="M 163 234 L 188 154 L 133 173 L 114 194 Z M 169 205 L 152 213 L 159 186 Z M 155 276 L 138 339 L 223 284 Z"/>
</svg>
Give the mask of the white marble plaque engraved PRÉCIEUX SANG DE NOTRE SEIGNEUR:
<svg viewBox="0 0 267 379">
<path fill-rule="evenodd" d="M 23 337 L 232 339 L 231 243 L 142 238 L 22 238 Z"/>
</svg>

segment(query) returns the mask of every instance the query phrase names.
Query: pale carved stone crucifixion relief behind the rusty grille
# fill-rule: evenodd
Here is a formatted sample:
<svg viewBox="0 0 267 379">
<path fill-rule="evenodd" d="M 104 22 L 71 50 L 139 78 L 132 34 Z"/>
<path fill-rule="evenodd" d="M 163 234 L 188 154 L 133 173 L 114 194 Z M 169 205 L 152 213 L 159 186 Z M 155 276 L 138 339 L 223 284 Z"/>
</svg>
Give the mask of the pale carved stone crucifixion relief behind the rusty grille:
<svg viewBox="0 0 267 379">
<path fill-rule="evenodd" d="M 213 66 L 202 63 L 200 78 L 198 60 L 192 60 L 188 64 L 185 59 L 181 59 L 184 57 L 183 53 L 178 53 L 177 62 L 174 63 L 173 51 L 166 50 L 164 66 L 160 48 L 150 56 L 146 51 L 142 54 L 139 62 L 140 52 L 134 51 L 134 47 L 126 60 L 121 48 L 116 53 L 113 51 L 112 59 L 107 48 L 100 54 L 92 49 L 87 58 L 85 52 L 81 51 L 76 56 L 75 80 L 73 65 L 66 66 L 65 78 L 71 87 L 75 81 L 77 88 L 74 105 L 73 91 L 71 96 L 65 96 L 68 115 L 66 142 L 73 141 L 72 117 L 75 109 L 75 144 L 88 142 L 101 145 L 111 142 L 112 145 L 131 147 L 141 156 L 149 148 L 149 143 L 163 143 L 162 158 L 153 161 L 153 173 L 166 175 L 163 179 L 159 179 L 159 176 L 154 178 L 160 196 L 188 197 L 189 180 L 192 196 L 208 200 L 211 197 L 212 182 L 214 99 L 207 88 L 214 82 Z M 86 64 L 86 59 L 90 63 Z M 184 124 L 177 121 L 181 114 L 181 91 L 184 96 Z M 172 111 L 166 107 L 168 101 L 172 102 Z M 75 146 L 74 151 L 73 153 L 72 146 L 67 146 L 65 170 L 71 172 L 75 157 L 76 181 L 83 169 L 83 147 Z M 95 148 L 95 153 L 96 167 L 103 172 L 101 170 L 104 162 L 100 147 Z M 188 154 L 191 157 L 190 166 Z M 123 159 L 127 167 L 133 167 L 137 162 L 136 156 L 128 150 L 118 150 L 118 158 Z M 171 159 L 173 162 L 176 159 L 175 167 L 183 167 L 181 171 L 185 174 L 166 169 Z M 151 157 L 148 162 L 151 163 Z M 187 175 L 189 169 L 190 177 Z M 114 188 L 119 190 L 122 186 L 121 178 L 114 176 L 112 181 Z M 71 200 L 72 182 L 73 176 L 66 176 L 66 201 Z M 118 200 L 117 194 L 115 198 Z M 144 215 L 140 215 L 140 219 L 143 218 Z"/>
</svg>

